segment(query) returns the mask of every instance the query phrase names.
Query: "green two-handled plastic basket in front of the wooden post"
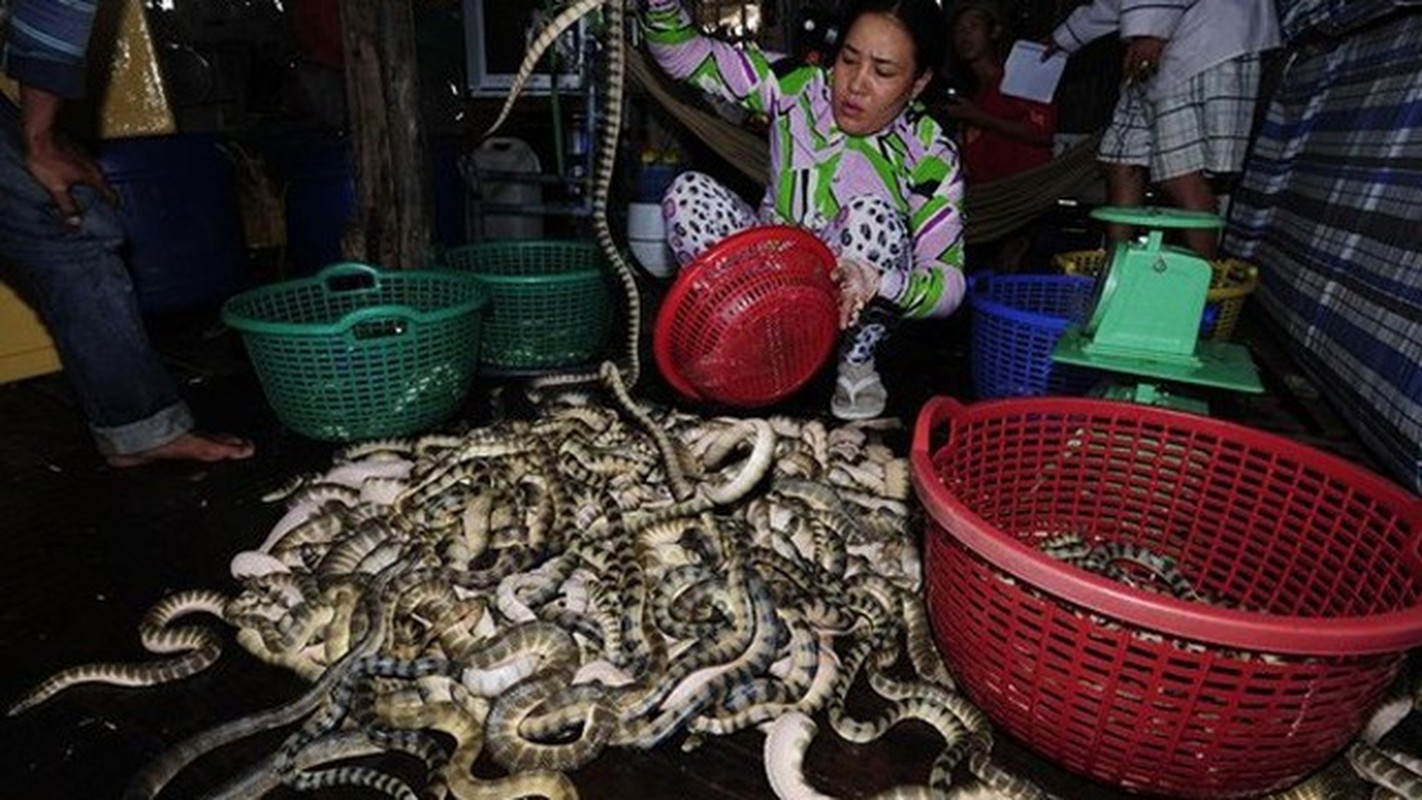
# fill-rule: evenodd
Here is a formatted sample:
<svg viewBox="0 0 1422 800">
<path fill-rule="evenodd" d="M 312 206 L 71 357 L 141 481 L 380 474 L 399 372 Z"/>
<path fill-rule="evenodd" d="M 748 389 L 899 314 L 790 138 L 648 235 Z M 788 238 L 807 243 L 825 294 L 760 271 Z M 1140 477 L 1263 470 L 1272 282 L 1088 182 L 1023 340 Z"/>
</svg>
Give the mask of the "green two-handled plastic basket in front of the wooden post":
<svg viewBox="0 0 1422 800">
<path fill-rule="evenodd" d="M 448 419 L 469 392 L 488 303 L 472 276 L 340 263 L 237 294 L 222 320 L 283 425 L 348 442 Z"/>
</svg>

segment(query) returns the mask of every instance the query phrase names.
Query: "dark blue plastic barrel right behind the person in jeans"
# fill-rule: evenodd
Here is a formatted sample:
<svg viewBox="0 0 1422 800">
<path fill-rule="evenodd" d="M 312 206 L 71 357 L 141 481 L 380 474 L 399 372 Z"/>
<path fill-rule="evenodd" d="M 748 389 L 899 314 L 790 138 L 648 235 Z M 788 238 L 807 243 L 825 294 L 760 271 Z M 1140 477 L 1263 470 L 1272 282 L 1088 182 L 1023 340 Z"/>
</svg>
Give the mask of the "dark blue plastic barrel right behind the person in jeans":
<svg viewBox="0 0 1422 800">
<path fill-rule="evenodd" d="M 218 136 L 101 142 L 95 159 L 118 193 L 125 260 L 144 313 L 216 303 L 247 288 L 232 159 Z"/>
</svg>

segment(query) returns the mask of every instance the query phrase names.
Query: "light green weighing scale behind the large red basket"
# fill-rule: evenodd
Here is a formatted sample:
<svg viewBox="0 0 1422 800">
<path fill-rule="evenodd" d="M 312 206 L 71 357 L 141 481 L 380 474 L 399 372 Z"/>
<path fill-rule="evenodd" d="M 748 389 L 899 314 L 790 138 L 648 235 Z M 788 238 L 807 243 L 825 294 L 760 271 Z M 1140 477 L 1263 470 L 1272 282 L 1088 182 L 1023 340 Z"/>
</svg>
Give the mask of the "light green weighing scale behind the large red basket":
<svg viewBox="0 0 1422 800">
<path fill-rule="evenodd" d="M 1206 413 L 1203 401 L 1172 389 L 1172 384 L 1237 392 L 1263 392 L 1258 372 L 1243 345 L 1200 341 L 1213 270 L 1193 250 L 1165 243 L 1169 229 L 1210 227 L 1224 222 L 1207 212 L 1105 206 L 1092 212 L 1102 222 L 1146 230 L 1138 242 L 1122 242 L 1096 276 L 1091 317 L 1071 325 L 1052 358 L 1123 375 L 1133 384 L 1112 384 L 1096 394 L 1149 405 Z"/>
</svg>

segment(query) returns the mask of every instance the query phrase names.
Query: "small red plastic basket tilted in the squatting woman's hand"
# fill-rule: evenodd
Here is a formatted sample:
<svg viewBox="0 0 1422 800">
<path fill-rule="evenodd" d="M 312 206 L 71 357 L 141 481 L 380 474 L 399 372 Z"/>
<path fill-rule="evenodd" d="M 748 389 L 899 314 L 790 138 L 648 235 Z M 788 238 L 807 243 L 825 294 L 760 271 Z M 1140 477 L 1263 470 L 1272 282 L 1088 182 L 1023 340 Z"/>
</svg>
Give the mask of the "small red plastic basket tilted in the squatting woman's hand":
<svg viewBox="0 0 1422 800">
<path fill-rule="evenodd" d="M 695 401 L 785 399 L 835 348 L 833 267 L 833 253 L 798 227 L 752 227 L 717 243 L 681 269 L 657 314 L 663 377 Z"/>
</svg>

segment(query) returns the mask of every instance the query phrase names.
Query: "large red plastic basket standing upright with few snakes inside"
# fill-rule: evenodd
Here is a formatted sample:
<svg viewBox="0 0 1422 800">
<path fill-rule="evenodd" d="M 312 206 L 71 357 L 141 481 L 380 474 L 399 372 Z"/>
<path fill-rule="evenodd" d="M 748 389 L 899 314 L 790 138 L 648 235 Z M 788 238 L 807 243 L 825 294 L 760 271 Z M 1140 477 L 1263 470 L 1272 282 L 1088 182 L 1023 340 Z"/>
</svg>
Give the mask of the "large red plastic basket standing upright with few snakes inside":
<svg viewBox="0 0 1422 800">
<path fill-rule="evenodd" d="M 947 665 L 1011 735 L 1103 783 L 1295 783 L 1422 644 L 1422 500 L 1297 442 L 1138 404 L 936 398 L 912 469 Z M 1038 548 L 1064 533 L 1173 557 L 1221 602 Z"/>
</svg>

